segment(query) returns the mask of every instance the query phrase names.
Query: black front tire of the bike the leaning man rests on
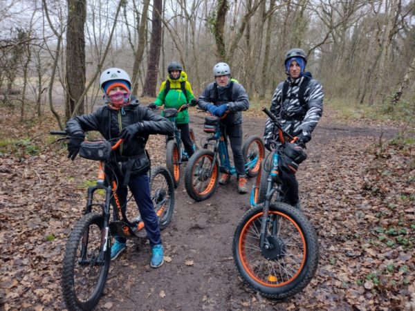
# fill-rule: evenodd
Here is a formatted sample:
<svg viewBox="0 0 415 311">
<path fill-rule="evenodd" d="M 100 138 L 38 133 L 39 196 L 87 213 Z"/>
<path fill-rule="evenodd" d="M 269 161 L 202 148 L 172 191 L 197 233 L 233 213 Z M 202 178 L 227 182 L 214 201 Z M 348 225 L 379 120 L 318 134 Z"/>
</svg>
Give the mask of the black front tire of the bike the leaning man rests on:
<svg viewBox="0 0 415 311">
<path fill-rule="evenodd" d="M 214 178 L 214 180 L 211 180 L 212 187 L 206 194 L 199 194 L 194 189 L 193 185 L 193 178 L 194 178 L 194 168 L 199 162 L 199 159 L 205 157 L 210 158 L 210 161 L 214 161 L 214 171 L 216 171 L 216 174 L 214 176 L 211 176 L 210 178 Z M 218 187 L 219 182 L 219 162 L 217 158 L 214 158 L 214 153 L 208 149 L 201 149 L 196 151 L 193 156 L 190 158 L 189 162 L 187 162 L 186 168 L 185 168 L 185 189 L 187 191 L 187 194 L 192 198 L 193 200 L 196 200 L 197 202 L 200 202 L 202 200 L 206 200 L 214 194 L 214 191 L 216 191 L 216 188 Z"/>
</svg>

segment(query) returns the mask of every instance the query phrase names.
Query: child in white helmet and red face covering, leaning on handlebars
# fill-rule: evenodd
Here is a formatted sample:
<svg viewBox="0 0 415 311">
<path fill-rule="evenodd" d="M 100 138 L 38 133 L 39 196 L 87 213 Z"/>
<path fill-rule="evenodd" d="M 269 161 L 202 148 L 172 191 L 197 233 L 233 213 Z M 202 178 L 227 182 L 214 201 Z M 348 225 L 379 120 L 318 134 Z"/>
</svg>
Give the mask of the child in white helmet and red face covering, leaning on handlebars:
<svg viewBox="0 0 415 311">
<path fill-rule="evenodd" d="M 172 122 L 157 115 L 147 107 L 139 106 L 138 100 L 131 96 L 129 75 L 120 68 L 104 70 L 100 77 L 106 106 L 97 111 L 73 117 L 66 123 L 66 132 L 71 135 L 68 142 L 68 158 L 75 159 L 84 141 L 86 131 L 99 131 L 106 140 L 122 138 L 116 157 L 122 172 L 118 173 L 117 194 L 123 208 L 127 205 L 127 187 L 122 187 L 124 178 L 136 200 L 140 216 L 145 224 L 151 246 L 151 267 L 163 265 L 163 245 L 160 227 L 154 211 L 149 189 L 149 159 L 145 153 L 145 143 L 150 134 L 173 135 Z M 126 182 L 127 183 L 127 182 Z M 114 213 L 114 218 L 118 218 Z M 111 260 L 127 247 L 124 238 L 116 238 L 111 247 Z"/>
</svg>

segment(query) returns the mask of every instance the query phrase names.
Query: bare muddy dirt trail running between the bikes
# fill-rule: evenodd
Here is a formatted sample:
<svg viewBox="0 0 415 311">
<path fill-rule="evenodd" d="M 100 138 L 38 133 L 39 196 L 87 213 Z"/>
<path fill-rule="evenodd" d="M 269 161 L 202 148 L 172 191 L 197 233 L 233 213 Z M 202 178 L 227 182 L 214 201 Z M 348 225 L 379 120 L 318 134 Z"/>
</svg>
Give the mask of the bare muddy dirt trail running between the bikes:
<svg viewBox="0 0 415 311">
<path fill-rule="evenodd" d="M 192 127 L 197 138 L 204 137 L 201 131 L 203 115 L 192 117 Z M 244 134 L 262 135 L 264 120 L 246 117 Z M 303 187 L 308 177 L 305 172 L 316 172 L 322 162 L 327 162 L 331 151 L 327 147 L 339 138 L 360 137 L 365 140 L 378 140 L 380 135 L 390 136 L 394 131 L 383 133 L 380 128 L 356 128 L 339 124 L 329 124 L 322 120 L 313 140 L 308 146 L 308 159 L 297 173 L 300 184 L 304 212 L 311 218 L 317 232 L 322 229 L 317 224 L 313 210 L 308 209 L 309 198 L 315 194 L 304 194 Z M 382 134 L 383 133 L 383 134 Z M 255 179 L 249 180 L 249 188 Z M 308 183 L 309 184 L 309 183 Z M 149 245 L 145 239 L 129 242 L 127 252 L 111 265 L 111 274 L 106 294 L 102 297 L 98 310 L 106 310 L 113 305 L 117 310 L 287 310 L 300 308 L 313 309 L 313 297 L 322 294 L 318 281 L 310 285 L 293 299 L 283 302 L 261 298 L 256 292 L 243 285 L 232 258 L 232 238 L 241 216 L 249 208 L 249 194 L 236 191 L 233 178 L 226 186 L 219 186 L 212 198 L 194 202 L 181 185 L 176 189 L 176 207 L 172 223 L 163 232 L 165 256 L 171 258 L 163 267 L 154 270 L 149 263 Z M 324 228 L 330 230 L 330 228 Z M 331 245 L 321 241 L 321 252 Z M 320 261 L 320 266 L 324 261 Z M 319 270 L 317 270 L 317 275 Z M 342 293 L 335 294 L 335 301 L 327 301 L 326 309 L 339 307 L 351 309 L 344 304 Z M 343 305 L 343 307 L 341 307 Z"/>
</svg>

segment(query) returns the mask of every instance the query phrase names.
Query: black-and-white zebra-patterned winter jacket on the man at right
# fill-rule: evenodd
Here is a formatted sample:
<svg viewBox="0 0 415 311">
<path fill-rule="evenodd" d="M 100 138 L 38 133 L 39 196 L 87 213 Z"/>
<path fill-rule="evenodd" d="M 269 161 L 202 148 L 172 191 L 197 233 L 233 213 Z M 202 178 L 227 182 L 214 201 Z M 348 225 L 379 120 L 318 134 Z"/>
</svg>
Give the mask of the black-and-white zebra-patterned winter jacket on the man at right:
<svg viewBox="0 0 415 311">
<path fill-rule="evenodd" d="M 323 113 L 323 88 L 322 84 L 315 79 L 310 79 L 304 92 L 304 106 L 298 100 L 299 85 L 304 82 L 304 77 L 295 81 L 287 78 L 288 91 L 282 94 L 284 82 L 278 84 L 275 89 L 270 111 L 277 117 L 282 129 L 292 136 L 300 133 L 308 135 L 311 139 L 315 126 Z M 277 127 L 268 118 L 265 124 L 264 140 L 269 142 L 277 138 Z M 308 140 L 309 140 L 308 139 Z"/>
</svg>

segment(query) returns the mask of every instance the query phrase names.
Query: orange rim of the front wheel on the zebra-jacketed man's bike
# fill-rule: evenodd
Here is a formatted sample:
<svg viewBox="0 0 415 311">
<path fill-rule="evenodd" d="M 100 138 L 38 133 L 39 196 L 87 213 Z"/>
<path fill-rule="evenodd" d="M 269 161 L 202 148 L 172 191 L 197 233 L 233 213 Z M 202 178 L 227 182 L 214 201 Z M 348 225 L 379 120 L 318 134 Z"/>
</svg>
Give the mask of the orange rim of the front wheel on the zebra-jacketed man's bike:
<svg viewBox="0 0 415 311">
<path fill-rule="evenodd" d="M 255 280 L 255 282 L 261 285 L 270 287 L 270 288 L 279 288 L 279 287 L 285 286 L 293 282 L 297 278 L 297 276 L 302 272 L 304 268 L 304 264 L 306 262 L 306 241 L 304 238 L 304 234 L 302 233 L 301 229 L 299 229 L 297 223 L 295 223 L 293 218 L 279 211 L 270 211 L 269 212 L 270 215 L 274 214 L 274 215 L 281 216 L 282 220 L 288 221 L 289 222 L 288 224 L 291 224 L 293 226 L 293 227 L 291 226 L 290 229 L 284 229 L 284 233 L 291 234 L 291 236 L 295 236 L 297 234 L 297 236 L 299 237 L 299 238 L 296 238 L 296 240 L 298 241 L 297 243 L 293 243 L 292 241 L 290 242 L 290 246 L 289 246 L 290 249 L 288 249 L 288 252 L 287 252 L 288 255 L 285 256 L 284 258 L 289 257 L 290 262 L 291 262 L 293 260 L 293 254 L 291 254 L 291 252 L 297 251 L 299 252 L 299 254 L 301 254 L 302 260 L 300 263 L 297 263 L 297 266 L 294 266 L 295 264 L 293 264 L 293 266 L 290 266 L 290 270 L 295 270 L 295 274 L 291 276 L 287 276 L 286 275 L 287 269 L 285 269 L 284 271 L 282 270 L 282 266 L 286 266 L 286 263 L 282 262 L 283 260 L 282 261 L 280 261 L 279 259 L 268 260 L 261 254 L 259 254 L 257 255 L 255 264 L 259 265 L 258 263 L 259 261 L 265 263 L 263 267 L 265 270 L 261 271 L 261 275 L 263 276 L 261 278 L 260 276 L 258 276 L 259 273 L 254 271 L 256 267 L 253 267 L 253 264 L 252 265 L 250 264 L 250 261 L 248 258 L 249 256 L 248 249 L 252 249 L 252 247 L 257 247 L 257 249 L 255 250 L 257 252 L 259 251 L 259 253 L 261 252 L 261 249 L 259 249 L 259 228 L 255 227 L 253 223 L 255 220 L 261 220 L 262 214 L 263 213 L 260 212 L 258 214 L 252 215 L 252 217 L 243 226 L 241 230 L 241 235 L 239 237 L 239 242 L 238 242 L 239 257 L 241 258 L 243 270 L 245 270 L 249 274 L 249 276 L 253 280 Z M 253 236 L 254 231 L 250 230 L 252 226 L 257 229 L 256 230 L 257 234 L 255 234 L 257 235 L 257 241 L 256 241 L 256 238 Z M 287 226 L 285 225 L 284 227 L 287 227 Z M 293 232 L 294 231 L 293 229 L 296 229 L 297 232 Z M 293 233 L 290 233 L 290 232 L 293 232 Z M 279 232 L 279 234 L 284 234 L 284 233 Z M 247 243 L 248 238 L 251 238 L 251 239 L 253 238 L 255 241 L 252 242 L 251 240 L 248 245 Z M 295 248 L 295 249 L 291 249 L 291 248 Z"/>
</svg>

